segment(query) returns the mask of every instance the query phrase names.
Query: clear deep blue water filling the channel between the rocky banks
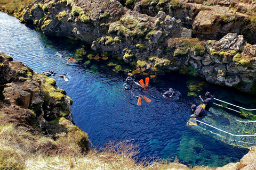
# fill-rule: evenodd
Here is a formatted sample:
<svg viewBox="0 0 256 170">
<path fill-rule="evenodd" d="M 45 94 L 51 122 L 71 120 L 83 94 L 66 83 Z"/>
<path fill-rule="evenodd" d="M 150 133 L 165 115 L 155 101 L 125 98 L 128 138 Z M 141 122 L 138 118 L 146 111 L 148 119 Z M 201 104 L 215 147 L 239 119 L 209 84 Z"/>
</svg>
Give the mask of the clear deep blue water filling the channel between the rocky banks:
<svg viewBox="0 0 256 170">
<path fill-rule="evenodd" d="M 53 70 L 68 73 L 71 78 L 64 81 L 55 78 L 60 88 L 74 100 L 71 106 L 73 121 L 89 134 L 94 146 L 109 140 L 131 139 L 139 145 L 139 157 L 177 157 L 185 164 L 223 166 L 237 162 L 249 151 L 228 145 L 215 139 L 213 134 L 202 133 L 186 125 L 190 106 L 197 99 L 187 97 L 187 81 L 203 83 L 202 92 L 213 91 L 216 98 L 226 99 L 242 107 L 255 107 L 255 96 L 234 89 L 214 86 L 198 78 L 177 73 L 149 81 L 149 88 L 142 91 L 152 101 L 142 100 L 137 106 L 138 91 L 124 91 L 124 73 L 108 70 L 93 71 L 83 62 L 67 64 L 54 56 L 60 52 L 75 58 L 78 42 L 64 38 L 45 37 L 33 26 L 0 12 L 0 52 L 11 55 L 35 72 Z M 88 53 L 90 47 L 87 48 Z M 138 80 L 141 77 L 138 77 Z M 145 77 L 142 77 L 145 80 Z M 163 99 L 161 94 L 169 87 L 183 94 L 179 100 Z M 245 97 L 246 96 L 246 97 Z M 246 98 L 246 99 L 245 99 Z M 245 101 L 246 100 L 246 101 Z M 235 118 L 237 115 L 231 115 Z M 239 116 L 238 116 L 239 117 Z M 228 138 L 228 137 L 227 137 Z"/>
</svg>

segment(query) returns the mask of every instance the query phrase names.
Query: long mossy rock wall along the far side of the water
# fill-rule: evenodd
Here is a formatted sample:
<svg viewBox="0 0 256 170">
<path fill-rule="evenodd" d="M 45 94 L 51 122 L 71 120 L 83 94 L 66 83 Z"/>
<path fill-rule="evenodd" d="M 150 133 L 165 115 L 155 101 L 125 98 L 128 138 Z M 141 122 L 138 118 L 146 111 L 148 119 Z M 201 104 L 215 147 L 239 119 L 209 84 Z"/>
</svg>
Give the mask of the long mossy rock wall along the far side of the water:
<svg viewBox="0 0 256 170">
<path fill-rule="evenodd" d="M 252 16 L 241 8 L 250 11 L 255 4 L 36 1 L 15 16 L 33 22 L 47 36 L 91 44 L 99 56 L 123 60 L 136 72 L 179 71 L 256 94 L 255 45 L 247 43 L 255 43 L 251 37 L 256 31 Z"/>
</svg>

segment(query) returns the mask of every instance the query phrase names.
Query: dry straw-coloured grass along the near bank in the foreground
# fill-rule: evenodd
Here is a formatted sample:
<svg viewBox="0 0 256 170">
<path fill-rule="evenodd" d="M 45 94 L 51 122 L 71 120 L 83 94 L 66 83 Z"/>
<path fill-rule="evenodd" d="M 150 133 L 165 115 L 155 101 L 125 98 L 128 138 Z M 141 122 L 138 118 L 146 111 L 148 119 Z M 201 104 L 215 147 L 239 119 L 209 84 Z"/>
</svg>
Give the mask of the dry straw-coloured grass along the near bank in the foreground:
<svg viewBox="0 0 256 170">
<path fill-rule="evenodd" d="M 177 159 L 137 159 L 137 145 L 131 140 L 110 141 L 82 154 L 79 149 L 65 146 L 50 137 L 34 135 L 13 124 L 0 125 L 0 169 L 203 169 L 188 168 Z M 171 163 L 172 162 L 172 163 Z"/>
</svg>

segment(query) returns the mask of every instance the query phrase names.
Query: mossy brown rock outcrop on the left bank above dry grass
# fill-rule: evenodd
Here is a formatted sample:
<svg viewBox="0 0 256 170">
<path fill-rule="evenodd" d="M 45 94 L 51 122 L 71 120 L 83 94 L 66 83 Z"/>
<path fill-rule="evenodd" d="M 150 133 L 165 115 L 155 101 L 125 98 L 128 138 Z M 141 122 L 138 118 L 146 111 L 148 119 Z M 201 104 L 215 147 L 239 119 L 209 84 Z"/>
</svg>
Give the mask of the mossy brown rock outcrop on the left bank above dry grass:
<svg viewBox="0 0 256 170">
<path fill-rule="evenodd" d="M 87 133 L 72 122 L 73 100 L 54 79 L 35 73 L 4 53 L 0 53 L 0 65 L 1 124 L 13 123 L 30 131 L 39 126 L 54 139 L 65 141 L 72 137 L 82 150 L 89 149 Z"/>
</svg>

